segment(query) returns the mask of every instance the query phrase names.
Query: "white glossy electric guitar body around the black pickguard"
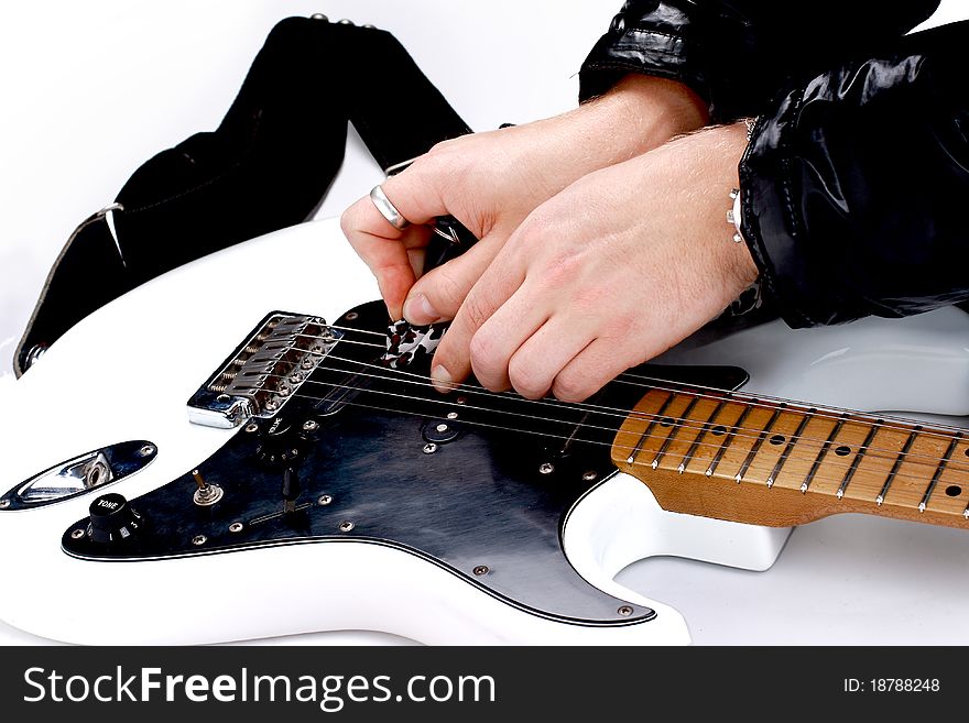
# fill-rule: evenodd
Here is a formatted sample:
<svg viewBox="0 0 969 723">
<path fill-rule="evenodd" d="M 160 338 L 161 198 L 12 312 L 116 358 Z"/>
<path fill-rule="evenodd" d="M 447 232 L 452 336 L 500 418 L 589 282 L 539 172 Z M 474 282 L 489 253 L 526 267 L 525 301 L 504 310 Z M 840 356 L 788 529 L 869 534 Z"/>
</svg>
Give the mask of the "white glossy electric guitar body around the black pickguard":
<svg viewBox="0 0 969 723">
<path fill-rule="evenodd" d="M 0 492 L 124 440 L 151 440 L 157 457 L 111 492 L 132 500 L 184 475 L 236 434 L 189 424 L 185 402 L 255 321 L 272 309 L 333 320 L 377 297 L 334 220 L 247 242 L 135 289 L 72 329 L 13 385 L 0 418 Z M 969 317 L 954 308 L 809 331 L 771 322 L 663 361 L 734 364 L 751 375 L 745 390 L 815 404 L 969 414 Z M 683 616 L 618 584 L 617 573 L 652 556 L 765 570 L 791 532 L 665 512 L 645 485 L 617 473 L 570 511 L 563 547 L 588 582 L 656 614 L 595 626 L 536 615 L 420 556 L 363 541 L 129 562 L 70 557 L 62 535 L 95 496 L 0 511 L 0 618 L 85 644 L 348 629 L 429 644 L 685 644 Z"/>
</svg>

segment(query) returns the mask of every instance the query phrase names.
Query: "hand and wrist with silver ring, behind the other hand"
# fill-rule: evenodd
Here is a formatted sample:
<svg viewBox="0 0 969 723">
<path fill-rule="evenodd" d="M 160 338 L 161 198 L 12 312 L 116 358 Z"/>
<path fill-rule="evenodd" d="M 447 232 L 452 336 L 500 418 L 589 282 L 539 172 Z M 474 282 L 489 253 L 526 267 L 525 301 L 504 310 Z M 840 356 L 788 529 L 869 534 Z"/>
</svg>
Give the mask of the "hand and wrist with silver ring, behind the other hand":
<svg viewBox="0 0 969 723">
<path fill-rule="evenodd" d="M 450 319 L 509 235 L 543 201 L 587 173 L 625 161 L 703 127 L 706 108 L 686 86 L 629 76 L 612 90 L 555 118 L 439 143 L 382 184 L 412 222 L 398 231 L 364 197 L 340 219 L 377 276 L 394 319 Z M 457 218 L 479 239 L 416 286 L 431 235 L 422 226 Z M 405 304 L 406 299 L 406 304 Z"/>
</svg>

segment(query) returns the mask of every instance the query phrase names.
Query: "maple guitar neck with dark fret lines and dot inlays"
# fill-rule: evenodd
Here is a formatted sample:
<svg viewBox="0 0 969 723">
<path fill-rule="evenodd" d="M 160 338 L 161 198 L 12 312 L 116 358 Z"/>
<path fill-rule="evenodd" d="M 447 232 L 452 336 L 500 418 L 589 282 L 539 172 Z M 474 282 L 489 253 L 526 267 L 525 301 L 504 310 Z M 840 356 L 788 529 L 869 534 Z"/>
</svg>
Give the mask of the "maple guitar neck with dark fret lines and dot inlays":
<svg viewBox="0 0 969 723">
<path fill-rule="evenodd" d="M 969 528 L 969 437 L 955 429 L 654 388 L 612 460 L 674 512 L 770 526 L 862 512 Z"/>
</svg>

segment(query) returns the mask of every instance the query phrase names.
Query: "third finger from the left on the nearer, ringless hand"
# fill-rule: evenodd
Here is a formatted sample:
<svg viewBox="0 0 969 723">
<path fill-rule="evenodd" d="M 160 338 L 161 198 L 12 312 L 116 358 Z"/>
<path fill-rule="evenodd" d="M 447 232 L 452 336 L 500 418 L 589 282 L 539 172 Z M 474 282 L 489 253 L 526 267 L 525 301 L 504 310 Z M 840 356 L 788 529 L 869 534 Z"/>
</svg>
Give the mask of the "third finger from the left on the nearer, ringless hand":
<svg viewBox="0 0 969 723">
<path fill-rule="evenodd" d="M 529 337 L 508 364 L 508 376 L 515 392 L 529 399 L 541 399 L 555 377 L 589 346 L 591 333 L 577 329 L 570 319 L 553 316 Z"/>
</svg>

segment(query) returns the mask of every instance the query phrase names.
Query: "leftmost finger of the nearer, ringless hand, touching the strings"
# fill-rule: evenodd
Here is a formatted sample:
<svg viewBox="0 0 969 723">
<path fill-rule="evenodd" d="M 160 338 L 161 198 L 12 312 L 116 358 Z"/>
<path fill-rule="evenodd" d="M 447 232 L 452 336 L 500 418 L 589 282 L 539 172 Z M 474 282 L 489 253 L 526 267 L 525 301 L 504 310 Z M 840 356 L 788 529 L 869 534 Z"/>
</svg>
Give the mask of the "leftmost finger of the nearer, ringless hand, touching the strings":
<svg viewBox="0 0 969 723">
<path fill-rule="evenodd" d="M 438 391 L 446 392 L 468 376 L 471 372 L 471 340 L 496 310 L 511 298 L 523 281 L 524 270 L 521 264 L 508 261 L 507 256 L 503 259 L 502 254 L 499 254 L 478 283 L 471 287 L 450 328 L 442 338 L 431 363 L 431 379 Z M 531 333 L 544 322 L 544 318 L 520 321 L 524 327 L 531 327 L 527 328 L 527 332 Z M 497 336 L 499 335 L 492 333 L 487 339 L 494 339 Z M 521 340 L 520 338 L 514 344 L 515 349 Z M 482 341 L 487 343 L 483 337 Z M 489 353 L 487 349 L 478 351 Z"/>
</svg>

